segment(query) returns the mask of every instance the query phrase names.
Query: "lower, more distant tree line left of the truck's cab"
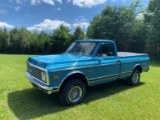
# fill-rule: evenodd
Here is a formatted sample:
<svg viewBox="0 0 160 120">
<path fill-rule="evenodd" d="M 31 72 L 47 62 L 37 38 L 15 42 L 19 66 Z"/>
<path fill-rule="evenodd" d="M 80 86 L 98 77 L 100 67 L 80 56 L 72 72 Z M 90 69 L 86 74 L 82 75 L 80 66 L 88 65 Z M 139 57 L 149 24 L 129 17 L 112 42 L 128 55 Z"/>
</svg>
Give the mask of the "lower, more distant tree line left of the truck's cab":
<svg viewBox="0 0 160 120">
<path fill-rule="evenodd" d="M 10 31 L 0 29 L 0 53 L 9 54 L 58 54 L 64 52 L 76 39 L 84 39 L 85 33 L 77 27 L 73 33 L 61 25 L 53 33 L 29 31 L 22 27 Z"/>
</svg>

